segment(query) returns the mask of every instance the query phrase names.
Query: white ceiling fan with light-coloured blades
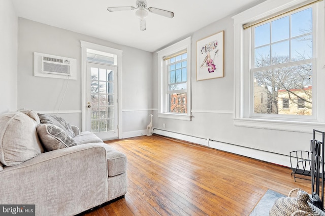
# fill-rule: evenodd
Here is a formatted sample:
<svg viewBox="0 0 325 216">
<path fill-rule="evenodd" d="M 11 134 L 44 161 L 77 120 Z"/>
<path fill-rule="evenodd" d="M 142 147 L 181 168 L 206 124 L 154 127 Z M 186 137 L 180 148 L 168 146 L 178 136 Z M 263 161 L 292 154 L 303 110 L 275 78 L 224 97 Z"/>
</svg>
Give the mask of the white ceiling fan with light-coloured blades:
<svg viewBox="0 0 325 216">
<path fill-rule="evenodd" d="M 169 17 L 173 18 L 174 13 L 171 11 L 166 11 L 163 9 L 158 9 L 158 8 L 147 8 L 147 1 L 146 0 L 137 0 L 136 1 L 137 7 L 108 7 L 107 10 L 109 12 L 114 12 L 114 11 L 132 11 L 134 9 L 139 9 L 136 12 L 136 16 L 139 17 L 140 19 L 140 30 L 144 31 L 147 29 L 146 27 L 146 20 L 145 18 L 148 16 L 148 11 L 154 14 L 158 14 L 164 17 Z"/>
</svg>

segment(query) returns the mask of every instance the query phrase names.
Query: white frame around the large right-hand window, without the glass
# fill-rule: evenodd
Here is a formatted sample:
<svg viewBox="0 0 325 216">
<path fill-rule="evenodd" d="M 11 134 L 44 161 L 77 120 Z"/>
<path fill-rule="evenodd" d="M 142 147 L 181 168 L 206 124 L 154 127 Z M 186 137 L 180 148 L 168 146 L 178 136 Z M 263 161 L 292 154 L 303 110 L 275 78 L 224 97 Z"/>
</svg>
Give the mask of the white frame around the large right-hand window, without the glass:
<svg viewBox="0 0 325 216">
<path fill-rule="evenodd" d="M 254 116 L 251 113 L 253 97 L 250 94 L 251 85 L 251 35 L 250 29 L 243 29 L 243 24 L 253 22 L 271 16 L 288 8 L 294 7 L 306 0 L 267 0 L 253 8 L 250 8 L 233 17 L 235 31 L 235 116 L 234 125 L 246 126 L 255 128 L 279 129 L 282 131 L 294 131 L 311 133 L 315 127 L 325 127 L 325 99 L 322 94 L 313 95 L 313 106 L 315 105 L 315 118 L 299 119 L 287 118 L 281 115 L 281 118 Z M 313 48 L 316 76 L 313 78 L 316 87 L 316 92 L 322 93 L 325 91 L 325 69 L 324 69 L 324 3 L 323 1 L 315 3 L 313 9 L 317 16 L 313 20 L 317 25 L 316 38 L 313 38 L 316 46 Z M 314 36 L 314 35 L 313 35 Z M 315 102 L 315 104 L 314 104 Z M 313 107 L 314 112 L 314 107 Z"/>
</svg>

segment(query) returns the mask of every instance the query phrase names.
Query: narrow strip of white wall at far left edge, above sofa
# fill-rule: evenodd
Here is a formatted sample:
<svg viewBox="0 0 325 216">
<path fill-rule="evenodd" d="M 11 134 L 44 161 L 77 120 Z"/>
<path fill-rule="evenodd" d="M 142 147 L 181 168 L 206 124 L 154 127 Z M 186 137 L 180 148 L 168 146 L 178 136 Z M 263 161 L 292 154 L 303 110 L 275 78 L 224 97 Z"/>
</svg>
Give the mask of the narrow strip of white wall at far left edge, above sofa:
<svg viewBox="0 0 325 216">
<path fill-rule="evenodd" d="M 11 0 L 1 0 L 0 113 L 17 109 L 17 19 Z"/>
</svg>

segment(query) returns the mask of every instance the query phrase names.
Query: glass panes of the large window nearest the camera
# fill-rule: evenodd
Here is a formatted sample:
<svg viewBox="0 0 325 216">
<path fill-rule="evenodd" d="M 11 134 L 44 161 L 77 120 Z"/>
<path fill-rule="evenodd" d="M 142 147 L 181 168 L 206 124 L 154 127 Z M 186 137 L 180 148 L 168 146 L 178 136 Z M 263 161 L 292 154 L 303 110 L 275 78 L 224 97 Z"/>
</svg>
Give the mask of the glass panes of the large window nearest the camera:
<svg viewBox="0 0 325 216">
<path fill-rule="evenodd" d="M 254 93 L 252 116 L 312 116 L 312 80 L 315 77 L 312 11 L 312 6 L 308 6 L 249 29 L 250 73 L 254 82 L 251 85 Z M 262 93 L 267 95 L 265 104 L 256 101 L 255 96 Z M 283 99 L 288 99 L 291 106 L 279 106 Z"/>
</svg>

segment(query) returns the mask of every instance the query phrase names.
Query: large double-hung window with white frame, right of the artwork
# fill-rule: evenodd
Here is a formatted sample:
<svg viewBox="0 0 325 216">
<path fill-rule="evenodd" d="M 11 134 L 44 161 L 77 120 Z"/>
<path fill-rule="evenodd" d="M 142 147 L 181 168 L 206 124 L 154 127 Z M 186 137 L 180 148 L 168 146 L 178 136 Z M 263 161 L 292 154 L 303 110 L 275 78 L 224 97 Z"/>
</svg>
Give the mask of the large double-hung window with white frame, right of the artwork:
<svg viewBox="0 0 325 216">
<path fill-rule="evenodd" d="M 235 125 L 308 132 L 325 122 L 323 14 L 323 1 L 268 0 L 233 17 Z"/>
</svg>

